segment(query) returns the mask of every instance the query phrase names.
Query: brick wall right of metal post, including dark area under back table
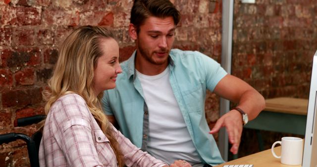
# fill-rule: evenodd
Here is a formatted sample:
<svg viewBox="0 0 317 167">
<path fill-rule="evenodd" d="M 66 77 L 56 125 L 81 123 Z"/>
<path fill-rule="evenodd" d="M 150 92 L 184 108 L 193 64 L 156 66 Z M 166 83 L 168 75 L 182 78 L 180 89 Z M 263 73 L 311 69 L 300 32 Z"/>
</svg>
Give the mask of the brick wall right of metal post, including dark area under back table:
<svg viewBox="0 0 317 167">
<path fill-rule="evenodd" d="M 256 0 L 234 3 L 232 74 L 265 98 L 308 98 L 317 50 L 317 0 Z M 283 136 L 261 131 L 264 149 Z M 239 157 L 259 151 L 255 130 L 244 129 Z"/>
</svg>

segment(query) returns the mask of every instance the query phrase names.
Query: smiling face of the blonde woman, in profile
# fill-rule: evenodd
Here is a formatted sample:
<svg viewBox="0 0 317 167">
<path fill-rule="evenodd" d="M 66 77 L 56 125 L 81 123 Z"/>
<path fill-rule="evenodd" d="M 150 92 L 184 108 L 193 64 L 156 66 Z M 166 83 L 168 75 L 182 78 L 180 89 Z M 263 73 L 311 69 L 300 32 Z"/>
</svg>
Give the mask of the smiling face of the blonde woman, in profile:
<svg viewBox="0 0 317 167">
<path fill-rule="evenodd" d="M 102 49 L 102 56 L 97 60 L 94 70 L 94 89 L 96 95 L 106 89 L 115 87 L 116 77 L 122 72 L 119 64 L 119 45 L 112 38 L 100 40 L 99 47 Z"/>
</svg>

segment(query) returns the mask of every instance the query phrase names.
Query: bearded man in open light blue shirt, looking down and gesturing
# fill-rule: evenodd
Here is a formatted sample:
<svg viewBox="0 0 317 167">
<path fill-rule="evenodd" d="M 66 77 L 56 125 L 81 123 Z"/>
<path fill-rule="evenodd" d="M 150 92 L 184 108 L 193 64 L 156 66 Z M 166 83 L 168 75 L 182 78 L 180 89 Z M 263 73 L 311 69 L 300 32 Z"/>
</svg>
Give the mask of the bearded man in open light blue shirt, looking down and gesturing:
<svg viewBox="0 0 317 167">
<path fill-rule="evenodd" d="M 230 151 L 236 154 L 246 114 L 254 119 L 264 109 L 264 98 L 210 57 L 171 49 L 179 20 L 169 0 L 134 1 L 129 34 L 137 49 L 121 63 L 123 72 L 116 88 L 105 91 L 103 107 L 132 143 L 154 157 L 167 163 L 183 159 L 193 167 L 214 166 L 223 160 L 211 134 L 225 126 Z M 238 104 L 211 131 L 204 110 L 207 88 Z"/>
</svg>

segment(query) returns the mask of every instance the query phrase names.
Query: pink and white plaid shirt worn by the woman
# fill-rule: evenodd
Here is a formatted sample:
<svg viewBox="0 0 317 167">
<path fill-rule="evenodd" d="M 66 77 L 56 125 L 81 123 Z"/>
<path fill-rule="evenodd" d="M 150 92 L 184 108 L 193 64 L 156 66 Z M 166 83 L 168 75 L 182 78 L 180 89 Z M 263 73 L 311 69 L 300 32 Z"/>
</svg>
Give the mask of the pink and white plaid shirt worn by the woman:
<svg viewBox="0 0 317 167">
<path fill-rule="evenodd" d="M 166 165 L 141 151 L 112 128 L 126 166 Z M 109 140 L 88 110 L 85 100 L 74 93 L 60 97 L 53 104 L 45 122 L 39 159 L 41 167 L 117 167 Z"/>
</svg>

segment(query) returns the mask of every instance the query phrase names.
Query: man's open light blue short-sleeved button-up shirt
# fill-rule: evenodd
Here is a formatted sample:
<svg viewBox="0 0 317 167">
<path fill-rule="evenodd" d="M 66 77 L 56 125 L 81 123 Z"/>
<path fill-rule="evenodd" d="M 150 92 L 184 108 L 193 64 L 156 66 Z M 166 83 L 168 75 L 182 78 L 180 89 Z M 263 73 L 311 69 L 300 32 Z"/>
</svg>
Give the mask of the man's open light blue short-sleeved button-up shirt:
<svg viewBox="0 0 317 167">
<path fill-rule="evenodd" d="M 135 53 L 121 63 L 122 74 L 117 77 L 116 88 L 106 90 L 102 101 L 106 115 L 114 115 L 121 132 L 141 148 L 145 103 L 135 75 Z M 219 63 L 198 51 L 172 49 L 169 56 L 169 82 L 197 152 L 203 163 L 221 164 L 220 152 L 209 134 L 205 99 L 206 90 L 213 91 L 227 73 Z"/>
</svg>

